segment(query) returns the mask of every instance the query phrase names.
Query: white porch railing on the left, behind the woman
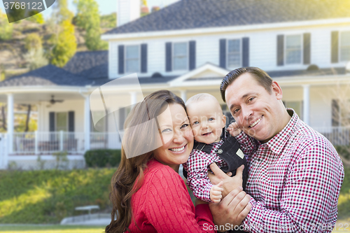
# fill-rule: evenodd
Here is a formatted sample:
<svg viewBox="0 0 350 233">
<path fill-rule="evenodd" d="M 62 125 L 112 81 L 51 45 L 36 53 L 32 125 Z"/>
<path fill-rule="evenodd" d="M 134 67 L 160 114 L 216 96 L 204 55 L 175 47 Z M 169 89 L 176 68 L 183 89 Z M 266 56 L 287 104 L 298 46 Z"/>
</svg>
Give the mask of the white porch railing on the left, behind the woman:
<svg viewBox="0 0 350 233">
<path fill-rule="evenodd" d="M 69 154 L 84 153 L 83 132 L 26 132 L 13 134 L 13 154 L 51 154 L 66 151 Z M 118 133 L 90 133 L 90 149 L 120 148 Z"/>
</svg>

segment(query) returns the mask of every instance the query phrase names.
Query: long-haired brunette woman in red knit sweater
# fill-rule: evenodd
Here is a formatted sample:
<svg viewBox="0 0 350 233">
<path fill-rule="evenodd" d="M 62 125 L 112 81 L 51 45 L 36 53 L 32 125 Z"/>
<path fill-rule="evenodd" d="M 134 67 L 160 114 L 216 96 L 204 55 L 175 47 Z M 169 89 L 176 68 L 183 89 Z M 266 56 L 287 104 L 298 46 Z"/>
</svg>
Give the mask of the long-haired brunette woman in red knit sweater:
<svg viewBox="0 0 350 233">
<path fill-rule="evenodd" d="M 193 149 L 182 99 L 166 90 L 148 95 L 125 129 L 106 232 L 214 232 L 208 204 L 193 206 L 178 174 Z"/>
</svg>

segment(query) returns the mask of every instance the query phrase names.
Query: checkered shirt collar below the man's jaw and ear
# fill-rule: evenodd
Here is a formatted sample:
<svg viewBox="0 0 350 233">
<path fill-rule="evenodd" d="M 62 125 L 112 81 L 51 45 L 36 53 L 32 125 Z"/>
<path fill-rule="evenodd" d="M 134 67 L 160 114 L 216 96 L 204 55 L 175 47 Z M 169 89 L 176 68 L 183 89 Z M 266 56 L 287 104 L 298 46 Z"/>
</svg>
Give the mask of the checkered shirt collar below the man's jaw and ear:
<svg viewBox="0 0 350 233">
<path fill-rule="evenodd" d="M 269 149 L 272 150 L 275 154 L 281 153 L 288 139 L 293 134 L 293 132 L 295 132 L 297 121 L 299 120 L 297 113 L 295 113 L 292 108 L 286 109 L 292 118 L 290 118 L 286 127 L 284 127 L 278 134 L 276 134 L 272 139 L 269 139 L 269 141 L 266 143 Z"/>
</svg>

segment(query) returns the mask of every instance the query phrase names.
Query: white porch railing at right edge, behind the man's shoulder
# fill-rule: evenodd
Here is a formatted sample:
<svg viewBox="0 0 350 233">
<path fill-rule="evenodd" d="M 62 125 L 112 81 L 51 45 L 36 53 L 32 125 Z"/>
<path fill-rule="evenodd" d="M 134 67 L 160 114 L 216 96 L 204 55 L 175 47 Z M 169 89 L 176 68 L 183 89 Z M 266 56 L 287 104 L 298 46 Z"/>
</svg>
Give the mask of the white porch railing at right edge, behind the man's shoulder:
<svg viewBox="0 0 350 233">
<path fill-rule="evenodd" d="M 349 127 L 313 127 L 317 132 L 323 134 L 333 146 L 350 145 Z"/>
</svg>

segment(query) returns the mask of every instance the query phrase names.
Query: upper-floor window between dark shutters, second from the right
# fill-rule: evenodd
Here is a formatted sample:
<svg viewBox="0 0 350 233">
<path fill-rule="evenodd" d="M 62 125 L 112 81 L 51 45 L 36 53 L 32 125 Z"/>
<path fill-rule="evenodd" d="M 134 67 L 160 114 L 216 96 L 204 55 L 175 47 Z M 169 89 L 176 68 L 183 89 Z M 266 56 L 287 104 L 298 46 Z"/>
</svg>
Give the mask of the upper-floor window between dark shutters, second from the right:
<svg viewBox="0 0 350 233">
<path fill-rule="evenodd" d="M 302 35 L 286 36 L 286 64 L 302 63 Z"/>
</svg>

